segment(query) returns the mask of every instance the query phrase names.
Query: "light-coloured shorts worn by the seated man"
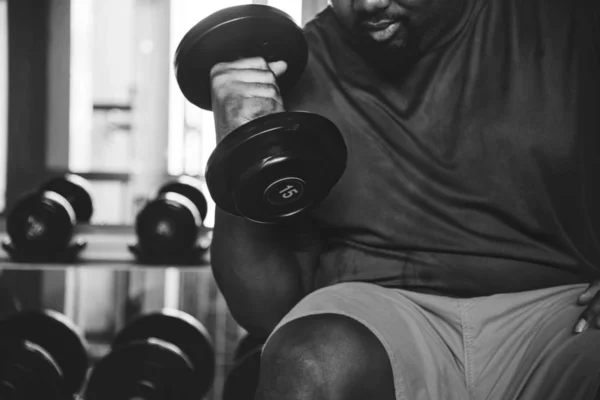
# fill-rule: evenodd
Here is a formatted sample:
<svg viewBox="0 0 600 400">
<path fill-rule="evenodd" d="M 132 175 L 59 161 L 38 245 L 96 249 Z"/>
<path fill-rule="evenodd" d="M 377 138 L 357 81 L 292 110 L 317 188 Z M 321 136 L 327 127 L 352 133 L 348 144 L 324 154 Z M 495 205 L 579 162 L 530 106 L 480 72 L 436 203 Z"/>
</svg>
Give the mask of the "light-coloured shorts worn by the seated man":
<svg viewBox="0 0 600 400">
<path fill-rule="evenodd" d="M 454 299 L 341 283 L 308 295 L 275 331 L 308 315 L 353 318 L 387 350 L 397 400 L 596 400 L 600 330 L 573 333 L 586 287 Z"/>
</svg>

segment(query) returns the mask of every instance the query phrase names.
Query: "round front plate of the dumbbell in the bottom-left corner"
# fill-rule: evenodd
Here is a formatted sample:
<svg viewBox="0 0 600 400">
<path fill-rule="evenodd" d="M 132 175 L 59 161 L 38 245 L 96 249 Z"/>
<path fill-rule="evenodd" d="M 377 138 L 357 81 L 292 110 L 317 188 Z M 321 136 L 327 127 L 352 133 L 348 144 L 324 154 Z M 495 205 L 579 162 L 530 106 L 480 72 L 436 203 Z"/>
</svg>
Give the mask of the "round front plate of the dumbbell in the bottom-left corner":
<svg viewBox="0 0 600 400">
<path fill-rule="evenodd" d="M 0 399 L 65 400 L 60 368 L 40 346 L 0 338 Z"/>
</svg>

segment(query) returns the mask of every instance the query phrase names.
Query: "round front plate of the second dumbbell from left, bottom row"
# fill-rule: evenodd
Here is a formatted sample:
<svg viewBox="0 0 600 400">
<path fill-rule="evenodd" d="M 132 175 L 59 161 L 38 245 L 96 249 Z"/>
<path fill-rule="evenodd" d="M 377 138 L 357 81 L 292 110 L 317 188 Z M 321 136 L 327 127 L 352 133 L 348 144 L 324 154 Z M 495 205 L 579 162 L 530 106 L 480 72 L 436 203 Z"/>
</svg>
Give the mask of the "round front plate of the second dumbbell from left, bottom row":
<svg viewBox="0 0 600 400">
<path fill-rule="evenodd" d="M 198 400 L 196 371 L 177 347 L 159 339 L 130 342 L 103 358 L 85 389 L 86 400 Z"/>
</svg>

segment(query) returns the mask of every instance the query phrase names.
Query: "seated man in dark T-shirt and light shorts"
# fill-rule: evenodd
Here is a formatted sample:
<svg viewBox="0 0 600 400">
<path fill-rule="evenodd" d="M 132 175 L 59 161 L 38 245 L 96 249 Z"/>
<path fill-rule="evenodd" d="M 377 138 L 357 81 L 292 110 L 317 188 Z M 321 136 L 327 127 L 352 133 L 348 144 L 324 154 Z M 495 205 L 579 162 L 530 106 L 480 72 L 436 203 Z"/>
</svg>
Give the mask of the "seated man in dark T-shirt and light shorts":
<svg viewBox="0 0 600 400">
<path fill-rule="evenodd" d="M 283 63 L 213 69 L 219 138 L 306 110 L 349 151 L 303 218 L 217 211 L 214 275 L 270 335 L 257 400 L 596 398 L 599 5 L 333 0 L 289 97 Z"/>
</svg>

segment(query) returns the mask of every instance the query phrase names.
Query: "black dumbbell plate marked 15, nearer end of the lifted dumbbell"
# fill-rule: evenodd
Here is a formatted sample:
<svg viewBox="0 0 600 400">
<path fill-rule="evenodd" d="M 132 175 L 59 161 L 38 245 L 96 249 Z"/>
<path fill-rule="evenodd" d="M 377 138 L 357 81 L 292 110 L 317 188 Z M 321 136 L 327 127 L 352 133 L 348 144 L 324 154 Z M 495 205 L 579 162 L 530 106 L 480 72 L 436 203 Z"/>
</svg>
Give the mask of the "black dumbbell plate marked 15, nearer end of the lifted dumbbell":
<svg viewBox="0 0 600 400">
<path fill-rule="evenodd" d="M 346 159 L 344 139 L 327 118 L 276 113 L 227 135 L 208 160 L 206 182 L 223 210 L 276 223 L 320 203 Z"/>
</svg>

